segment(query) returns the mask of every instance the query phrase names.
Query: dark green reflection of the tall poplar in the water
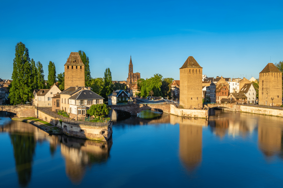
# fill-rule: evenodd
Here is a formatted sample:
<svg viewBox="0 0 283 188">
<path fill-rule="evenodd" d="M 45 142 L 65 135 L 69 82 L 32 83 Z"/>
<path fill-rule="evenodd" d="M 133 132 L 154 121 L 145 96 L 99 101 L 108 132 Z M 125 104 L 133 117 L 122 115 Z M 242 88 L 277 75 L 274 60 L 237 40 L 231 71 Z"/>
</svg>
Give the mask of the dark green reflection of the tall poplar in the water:
<svg viewBox="0 0 283 188">
<path fill-rule="evenodd" d="M 19 185 L 26 187 L 31 180 L 31 165 L 36 142 L 34 136 L 29 134 L 11 133 L 10 138 L 14 148 Z"/>
</svg>

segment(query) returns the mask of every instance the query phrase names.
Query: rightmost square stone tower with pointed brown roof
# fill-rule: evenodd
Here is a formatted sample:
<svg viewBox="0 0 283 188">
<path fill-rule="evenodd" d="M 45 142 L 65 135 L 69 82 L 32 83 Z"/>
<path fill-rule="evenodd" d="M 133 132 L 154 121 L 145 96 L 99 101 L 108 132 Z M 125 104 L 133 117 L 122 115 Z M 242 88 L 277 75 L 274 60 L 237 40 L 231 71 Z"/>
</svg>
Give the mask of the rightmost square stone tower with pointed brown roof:
<svg viewBox="0 0 283 188">
<path fill-rule="evenodd" d="M 282 105 L 282 73 L 273 63 L 267 64 L 259 73 L 258 83 L 259 105 Z"/>
</svg>

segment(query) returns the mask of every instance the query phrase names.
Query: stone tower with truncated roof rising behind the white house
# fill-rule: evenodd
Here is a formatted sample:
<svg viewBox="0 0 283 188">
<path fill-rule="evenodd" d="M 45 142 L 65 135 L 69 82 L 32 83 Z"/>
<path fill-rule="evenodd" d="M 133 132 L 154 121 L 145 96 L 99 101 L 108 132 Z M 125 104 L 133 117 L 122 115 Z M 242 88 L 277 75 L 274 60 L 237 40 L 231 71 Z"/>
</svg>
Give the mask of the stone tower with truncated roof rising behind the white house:
<svg viewBox="0 0 283 188">
<path fill-rule="evenodd" d="M 71 52 L 65 63 L 65 89 L 74 86 L 85 86 L 85 65 L 79 52 Z"/>
</svg>

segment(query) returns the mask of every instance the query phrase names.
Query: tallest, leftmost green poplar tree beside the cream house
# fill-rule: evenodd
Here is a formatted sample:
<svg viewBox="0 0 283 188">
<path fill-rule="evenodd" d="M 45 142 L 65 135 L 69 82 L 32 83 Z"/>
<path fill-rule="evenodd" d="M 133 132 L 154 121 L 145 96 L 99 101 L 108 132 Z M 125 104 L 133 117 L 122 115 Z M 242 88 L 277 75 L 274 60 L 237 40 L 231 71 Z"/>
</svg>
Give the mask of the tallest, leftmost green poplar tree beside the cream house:
<svg viewBox="0 0 283 188">
<path fill-rule="evenodd" d="M 11 104 L 24 103 L 32 94 L 32 82 L 29 51 L 22 42 L 15 47 L 12 80 L 9 95 Z"/>
</svg>

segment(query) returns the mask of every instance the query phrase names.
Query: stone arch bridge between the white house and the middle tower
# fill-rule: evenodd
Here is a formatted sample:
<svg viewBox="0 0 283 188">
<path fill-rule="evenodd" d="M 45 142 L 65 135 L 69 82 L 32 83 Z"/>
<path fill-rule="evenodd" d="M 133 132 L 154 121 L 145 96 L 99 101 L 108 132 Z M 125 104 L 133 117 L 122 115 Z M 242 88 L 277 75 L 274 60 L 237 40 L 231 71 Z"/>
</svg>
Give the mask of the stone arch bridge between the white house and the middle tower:
<svg viewBox="0 0 283 188">
<path fill-rule="evenodd" d="M 159 109 L 164 113 L 170 113 L 170 104 L 127 104 L 127 105 L 108 105 L 111 110 L 123 110 L 136 116 L 137 113 L 147 109 Z"/>
</svg>

